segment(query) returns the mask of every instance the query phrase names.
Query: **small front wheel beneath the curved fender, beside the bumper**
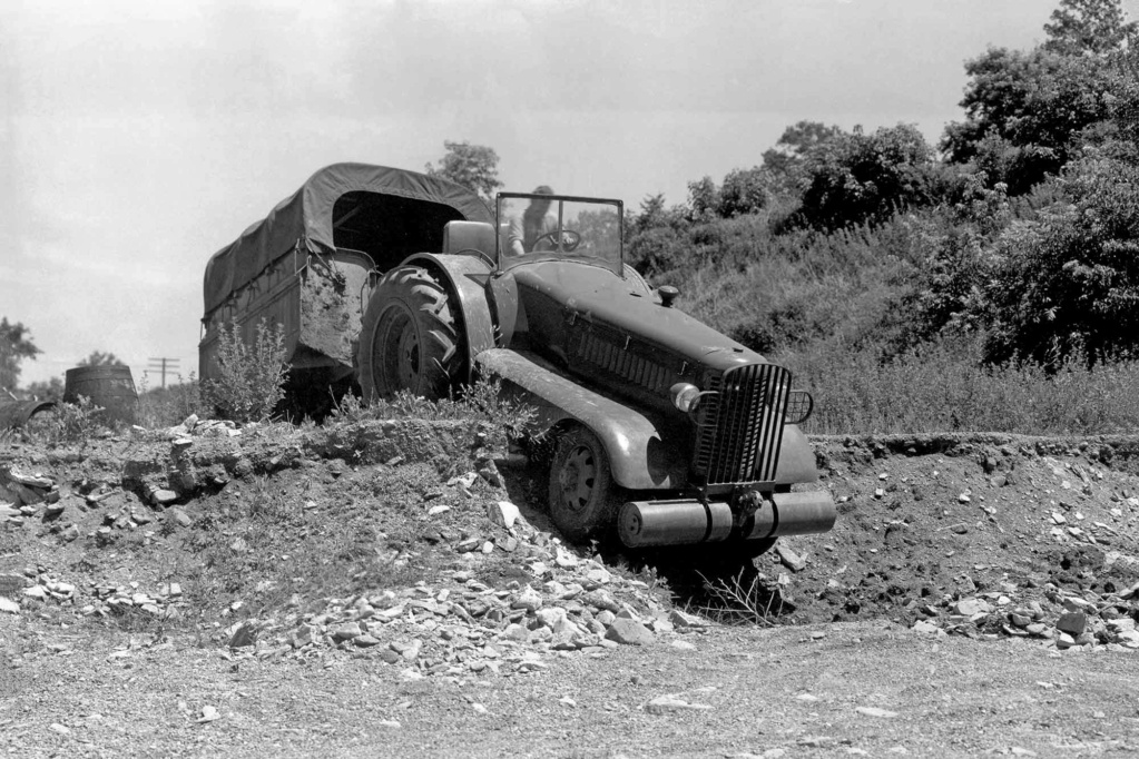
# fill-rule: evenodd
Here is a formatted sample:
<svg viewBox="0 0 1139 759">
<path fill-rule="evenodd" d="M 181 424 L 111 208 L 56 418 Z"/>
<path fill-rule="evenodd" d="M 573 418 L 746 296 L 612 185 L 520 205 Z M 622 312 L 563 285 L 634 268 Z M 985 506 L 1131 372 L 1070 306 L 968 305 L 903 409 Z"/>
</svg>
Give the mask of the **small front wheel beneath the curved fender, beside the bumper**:
<svg viewBox="0 0 1139 759">
<path fill-rule="evenodd" d="M 616 515 L 609 457 L 597 436 L 574 427 L 558 437 L 550 464 L 550 517 L 574 542 L 604 535 Z"/>
</svg>

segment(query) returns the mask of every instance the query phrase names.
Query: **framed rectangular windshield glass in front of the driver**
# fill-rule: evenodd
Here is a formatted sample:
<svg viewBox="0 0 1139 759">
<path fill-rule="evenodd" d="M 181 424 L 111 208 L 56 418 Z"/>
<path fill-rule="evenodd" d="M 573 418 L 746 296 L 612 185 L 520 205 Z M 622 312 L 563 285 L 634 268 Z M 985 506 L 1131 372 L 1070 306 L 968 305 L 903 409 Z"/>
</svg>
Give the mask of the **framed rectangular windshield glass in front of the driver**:
<svg viewBox="0 0 1139 759">
<path fill-rule="evenodd" d="M 497 215 L 502 269 L 572 259 L 622 273 L 620 200 L 502 192 Z"/>
</svg>

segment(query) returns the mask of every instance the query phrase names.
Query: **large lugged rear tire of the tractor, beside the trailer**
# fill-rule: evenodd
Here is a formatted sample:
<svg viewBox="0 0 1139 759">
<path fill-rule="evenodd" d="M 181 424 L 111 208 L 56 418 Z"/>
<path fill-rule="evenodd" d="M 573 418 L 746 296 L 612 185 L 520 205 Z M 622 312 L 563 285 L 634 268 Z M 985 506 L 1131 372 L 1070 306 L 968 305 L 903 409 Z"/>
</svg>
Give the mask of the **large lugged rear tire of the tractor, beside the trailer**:
<svg viewBox="0 0 1139 759">
<path fill-rule="evenodd" d="M 419 266 L 393 269 L 371 294 L 357 362 L 364 402 L 409 390 L 446 397 L 462 366 L 462 339 L 446 290 Z"/>
</svg>

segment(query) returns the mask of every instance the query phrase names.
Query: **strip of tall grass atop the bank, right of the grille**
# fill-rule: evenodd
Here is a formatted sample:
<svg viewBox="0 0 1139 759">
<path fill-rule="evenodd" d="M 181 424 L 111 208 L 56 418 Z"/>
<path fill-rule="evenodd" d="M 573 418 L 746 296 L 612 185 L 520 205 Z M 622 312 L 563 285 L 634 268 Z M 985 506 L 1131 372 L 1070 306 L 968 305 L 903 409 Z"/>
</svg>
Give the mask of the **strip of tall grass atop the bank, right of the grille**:
<svg viewBox="0 0 1139 759">
<path fill-rule="evenodd" d="M 818 343 L 776 360 L 810 389 L 816 434 L 1092 435 L 1139 431 L 1139 361 L 1088 369 L 1074 357 L 985 366 L 978 338 L 949 338 L 888 361 L 877 346 Z"/>
</svg>

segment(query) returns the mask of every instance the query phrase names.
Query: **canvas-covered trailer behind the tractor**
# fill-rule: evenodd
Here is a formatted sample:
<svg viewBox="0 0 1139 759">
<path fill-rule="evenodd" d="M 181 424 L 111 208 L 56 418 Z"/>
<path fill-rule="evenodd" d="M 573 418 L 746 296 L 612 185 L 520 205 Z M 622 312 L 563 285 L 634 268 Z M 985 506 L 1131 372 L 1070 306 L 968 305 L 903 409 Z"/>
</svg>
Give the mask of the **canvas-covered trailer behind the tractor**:
<svg viewBox="0 0 1139 759">
<path fill-rule="evenodd" d="M 206 265 L 202 379 L 218 376 L 221 328 L 247 344 L 262 317 L 284 325 L 290 390 L 353 379 L 354 343 L 376 277 L 439 251 L 450 221 L 492 222 L 478 197 L 417 172 L 344 163 L 321 168 Z"/>
</svg>

